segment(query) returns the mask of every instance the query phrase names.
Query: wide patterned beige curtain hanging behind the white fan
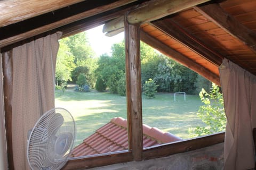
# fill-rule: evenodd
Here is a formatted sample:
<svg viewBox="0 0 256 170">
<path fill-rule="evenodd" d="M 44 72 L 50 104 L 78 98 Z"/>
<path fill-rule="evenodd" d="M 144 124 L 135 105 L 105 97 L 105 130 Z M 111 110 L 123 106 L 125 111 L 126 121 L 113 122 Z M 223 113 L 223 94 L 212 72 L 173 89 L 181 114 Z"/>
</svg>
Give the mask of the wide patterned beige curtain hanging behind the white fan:
<svg viewBox="0 0 256 170">
<path fill-rule="evenodd" d="M 27 163 L 28 131 L 38 118 L 54 107 L 57 32 L 13 48 L 12 145 L 15 170 Z"/>
</svg>

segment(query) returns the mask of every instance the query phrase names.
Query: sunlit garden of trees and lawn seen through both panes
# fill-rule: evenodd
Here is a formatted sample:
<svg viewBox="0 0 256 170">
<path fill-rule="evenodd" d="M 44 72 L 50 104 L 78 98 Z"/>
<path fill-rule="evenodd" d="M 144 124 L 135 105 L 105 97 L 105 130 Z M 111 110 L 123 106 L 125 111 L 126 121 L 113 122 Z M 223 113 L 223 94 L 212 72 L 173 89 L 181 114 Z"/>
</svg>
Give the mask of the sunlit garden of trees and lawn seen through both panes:
<svg viewBox="0 0 256 170">
<path fill-rule="evenodd" d="M 95 56 L 86 32 L 60 40 L 55 106 L 73 114 L 76 145 L 111 118 L 127 117 L 124 41 L 111 50 Z M 143 124 L 182 139 L 225 130 L 221 89 L 142 42 L 141 86 Z M 174 101 L 174 92 L 186 100 Z"/>
</svg>

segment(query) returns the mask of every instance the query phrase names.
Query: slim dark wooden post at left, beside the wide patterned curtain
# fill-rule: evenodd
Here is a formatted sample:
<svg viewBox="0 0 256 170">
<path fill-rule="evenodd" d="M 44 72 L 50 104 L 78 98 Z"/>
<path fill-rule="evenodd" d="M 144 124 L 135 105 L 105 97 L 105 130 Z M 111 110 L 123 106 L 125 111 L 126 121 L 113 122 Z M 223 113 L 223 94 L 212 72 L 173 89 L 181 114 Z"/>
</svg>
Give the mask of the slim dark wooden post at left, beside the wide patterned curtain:
<svg viewBox="0 0 256 170">
<path fill-rule="evenodd" d="M 3 58 L 3 75 L 4 75 L 4 109 L 5 109 L 5 129 L 7 142 L 7 157 L 9 169 L 14 169 L 12 157 L 12 50 L 5 52 Z"/>
</svg>

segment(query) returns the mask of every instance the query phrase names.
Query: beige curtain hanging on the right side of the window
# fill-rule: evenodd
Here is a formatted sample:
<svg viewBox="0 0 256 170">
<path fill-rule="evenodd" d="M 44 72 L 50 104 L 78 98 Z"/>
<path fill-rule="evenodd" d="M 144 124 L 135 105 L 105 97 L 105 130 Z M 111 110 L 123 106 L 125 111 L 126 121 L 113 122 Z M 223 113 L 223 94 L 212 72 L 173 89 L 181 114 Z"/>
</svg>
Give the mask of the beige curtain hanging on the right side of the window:
<svg viewBox="0 0 256 170">
<path fill-rule="evenodd" d="M 227 116 L 224 169 L 251 169 L 254 167 L 256 77 L 226 59 L 219 71 Z"/>
</svg>

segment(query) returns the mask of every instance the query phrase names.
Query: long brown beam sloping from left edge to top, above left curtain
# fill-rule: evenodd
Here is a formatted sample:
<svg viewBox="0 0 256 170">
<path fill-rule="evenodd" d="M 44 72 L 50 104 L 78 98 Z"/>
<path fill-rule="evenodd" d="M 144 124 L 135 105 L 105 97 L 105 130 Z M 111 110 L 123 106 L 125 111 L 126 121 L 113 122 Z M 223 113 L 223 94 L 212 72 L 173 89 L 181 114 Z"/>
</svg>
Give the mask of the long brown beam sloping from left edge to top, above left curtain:
<svg viewBox="0 0 256 170">
<path fill-rule="evenodd" d="M 90 16 L 97 15 L 97 14 L 100 14 L 100 13 L 103 13 L 103 12 L 106 12 L 106 11 L 109 11 L 111 9 L 117 8 L 119 6 L 123 6 L 123 5 L 128 4 L 128 3 L 132 3 L 134 1 L 135 0 L 113 1 L 113 3 L 98 6 L 98 7 L 92 8 L 91 10 L 87 10 L 87 11 L 84 11 L 82 13 L 71 15 L 67 18 L 60 19 L 58 21 L 43 25 L 42 27 L 34 28 L 32 30 L 20 33 L 19 35 L 15 35 L 15 36 L 12 36 L 12 37 L 9 37 L 9 38 L 6 38 L 6 39 L 2 39 L 2 40 L 0 40 L 0 48 L 5 47 L 5 46 L 10 45 L 10 44 L 13 44 L 13 43 L 16 43 L 18 41 L 33 37 L 33 36 L 36 36 L 36 35 L 39 35 L 41 33 L 44 33 L 44 32 L 62 27 L 63 25 L 66 25 L 66 24 L 69 24 L 69 23 L 72 23 L 72 22 L 75 22 L 75 21 L 78 21 L 78 20 L 81 20 L 81 19 L 84 19 L 84 18 L 88 18 Z M 31 24 L 33 24 L 33 23 L 31 23 Z"/>
</svg>

